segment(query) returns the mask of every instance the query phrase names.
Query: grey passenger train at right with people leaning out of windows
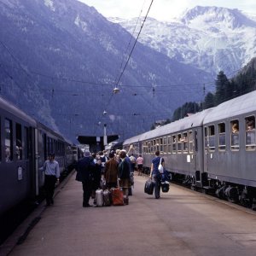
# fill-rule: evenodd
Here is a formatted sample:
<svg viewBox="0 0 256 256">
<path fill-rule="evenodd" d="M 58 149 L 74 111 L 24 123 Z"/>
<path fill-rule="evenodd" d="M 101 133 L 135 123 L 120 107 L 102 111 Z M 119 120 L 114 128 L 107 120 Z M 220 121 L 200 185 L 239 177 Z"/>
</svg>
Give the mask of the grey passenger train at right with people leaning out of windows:
<svg viewBox="0 0 256 256">
<path fill-rule="evenodd" d="M 173 178 L 193 189 L 256 207 L 256 91 L 215 108 L 128 138 L 126 151 L 143 154 L 149 168 L 156 150 Z M 236 130 L 235 130 L 236 127 Z"/>
</svg>

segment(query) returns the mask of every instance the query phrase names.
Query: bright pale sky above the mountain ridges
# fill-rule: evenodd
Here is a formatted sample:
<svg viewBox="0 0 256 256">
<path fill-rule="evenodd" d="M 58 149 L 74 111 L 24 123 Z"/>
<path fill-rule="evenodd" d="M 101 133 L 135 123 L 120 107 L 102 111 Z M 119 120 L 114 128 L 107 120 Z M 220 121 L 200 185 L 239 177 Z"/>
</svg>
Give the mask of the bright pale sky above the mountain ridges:
<svg viewBox="0 0 256 256">
<path fill-rule="evenodd" d="M 79 0 L 95 9 L 105 17 L 124 19 L 146 15 L 152 0 Z M 172 20 L 186 9 L 196 5 L 217 6 L 240 9 L 256 15 L 255 0 L 154 0 L 148 16 L 156 20 Z"/>
</svg>

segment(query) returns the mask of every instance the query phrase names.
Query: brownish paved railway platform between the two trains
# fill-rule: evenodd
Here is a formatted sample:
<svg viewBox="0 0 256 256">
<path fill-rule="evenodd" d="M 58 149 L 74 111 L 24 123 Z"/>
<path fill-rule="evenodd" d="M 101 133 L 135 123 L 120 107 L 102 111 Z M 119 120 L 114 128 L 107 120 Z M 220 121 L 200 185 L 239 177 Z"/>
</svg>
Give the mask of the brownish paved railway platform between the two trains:
<svg viewBox="0 0 256 256">
<path fill-rule="evenodd" d="M 84 208 L 73 173 L 54 206 L 38 207 L 26 239 L 8 253 L 3 244 L 1 256 L 255 255 L 256 212 L 174 184 L 156 200 L 143 192 L 147 178 L 135 176 L 128 206 Z"/>
</svg>

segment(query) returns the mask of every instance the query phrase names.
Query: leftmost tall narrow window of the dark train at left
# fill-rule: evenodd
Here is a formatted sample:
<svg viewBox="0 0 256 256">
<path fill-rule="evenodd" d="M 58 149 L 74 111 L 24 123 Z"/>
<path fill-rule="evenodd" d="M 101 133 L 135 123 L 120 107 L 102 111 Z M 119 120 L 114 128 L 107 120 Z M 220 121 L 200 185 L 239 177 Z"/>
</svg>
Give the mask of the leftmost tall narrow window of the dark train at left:
<svg viewBox="0 0 256 256">
<path fill-rule="evenodd" d="M 13 160 L 13 124 L 9 119 L 4 122 L 5 160 Z"/>
</svg>

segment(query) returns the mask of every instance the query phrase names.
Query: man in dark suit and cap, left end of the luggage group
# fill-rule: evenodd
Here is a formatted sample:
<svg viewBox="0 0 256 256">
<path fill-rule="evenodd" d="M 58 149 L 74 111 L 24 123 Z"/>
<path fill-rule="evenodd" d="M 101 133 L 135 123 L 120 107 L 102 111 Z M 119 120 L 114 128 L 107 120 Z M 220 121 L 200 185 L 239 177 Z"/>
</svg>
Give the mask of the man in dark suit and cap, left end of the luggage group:
<svg viewBox="0 0 256 256">
<path fill-rule="evenodd" d="M 76 180 L 83 183 L 83 207 L 92 207 L 89 204 L 91 191 L 93 188 L 93 173 L 96 165 L 89 151 L 84 152 L 84 158 L 80 159 L 77 164 Z"/>
</svg>

